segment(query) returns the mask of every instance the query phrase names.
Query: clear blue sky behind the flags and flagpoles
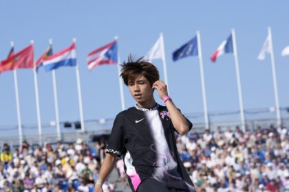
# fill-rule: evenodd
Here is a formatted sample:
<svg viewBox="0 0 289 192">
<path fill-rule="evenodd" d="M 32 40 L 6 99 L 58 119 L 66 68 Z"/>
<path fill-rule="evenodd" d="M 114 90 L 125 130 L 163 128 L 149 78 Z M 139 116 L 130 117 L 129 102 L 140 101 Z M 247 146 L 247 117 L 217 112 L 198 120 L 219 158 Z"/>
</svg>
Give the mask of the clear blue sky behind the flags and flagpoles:
<svg viewBox="0 0 289 192">
<path fill-rule="evenodd" d="M 272 27 L 280 106 L 289 106 L 289 57 L 281 50 L 289 45 L 288 1 L 1 1 L 0 59 L 6 58 L 10 40 L 19 51 L 34 40 L 38 58 L 53 39 L 54 52 L 77 38 L 85 119 L 114 117 L 121 110 L 116 65 L 88 71 L 87 53 L 118 36 L 120 59 L 129 53 L 143 56 L 164 34 L 171 97 L 184 113 L 202 112 L 200 65 L 197 57 L 173 62 L 171 53 L 200 30 L 208 110 L 238 110 L 235 63 L 232 54 L 209 59 L 235 28 L 244 108 L 275 106 L 270 56 L 257 55 Z M 162 75 L 162 62 L 153 61 Z M 33 73 L 17 71 L 21 120 L 36 125 Z M 61 121 L 79 119 L 76 73 L 63 67 L 56 71 Z M 17 125 L 13 73 L 0 75 L 0 127 Z M 157 95 L 156 95 L 157 96 Z M 52 74 L 39 71 L 41 119 L 55 119 Z M 161 103 L 160 99 L 157 99 Z M 125 105 L 135 104 L 125 87 Z M 283 115 L 287 115 L 284 113 Z M 273 116 L 274 117 L 274 116 Z"/>
</svg>

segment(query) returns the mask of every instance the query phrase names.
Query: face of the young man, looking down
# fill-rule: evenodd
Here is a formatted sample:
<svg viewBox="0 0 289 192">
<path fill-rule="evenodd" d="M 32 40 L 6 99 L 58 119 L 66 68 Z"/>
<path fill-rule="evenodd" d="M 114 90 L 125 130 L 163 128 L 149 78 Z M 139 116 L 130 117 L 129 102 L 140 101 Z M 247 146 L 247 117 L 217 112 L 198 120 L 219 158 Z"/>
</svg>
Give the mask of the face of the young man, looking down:
<svg viewBox="0 0 289 192">
<path fill-rule="evenodd" d="M 143 75 L 136 76 L 135 80 L 129 80 L 128 87 L 133 99 L 138 104 L 143 104 L 153 97 L 153 88 Z"/>
</svg>

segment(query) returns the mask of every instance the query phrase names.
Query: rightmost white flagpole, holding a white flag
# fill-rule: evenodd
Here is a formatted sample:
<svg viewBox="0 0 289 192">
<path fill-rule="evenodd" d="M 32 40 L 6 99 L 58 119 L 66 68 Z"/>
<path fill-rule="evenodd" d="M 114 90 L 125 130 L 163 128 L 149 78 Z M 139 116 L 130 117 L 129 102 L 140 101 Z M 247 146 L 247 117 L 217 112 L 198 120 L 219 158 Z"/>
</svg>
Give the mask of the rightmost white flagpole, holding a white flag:
<svg viewBox="0 0 289 192">
<path fill-rule="evenodd" d="M 274 58 L 274 51 L 273 51 L 271 27 L 268 27 L 268 36 L 270 38 L 269 49 L 270 49 L 270 55 L 271 55 L 272 76 L 273 76 L 273 84 L 274 84 L 274 92 L 275 92 L 277 126 L 279 126 L 281 124 L 281 115 L 280 115 L 280 107 L 279 107 L 279 96 L 278 96 L 277 77 L 276 77 L 276 69 L 275 69 L 275 58 Z"/>
</svg>

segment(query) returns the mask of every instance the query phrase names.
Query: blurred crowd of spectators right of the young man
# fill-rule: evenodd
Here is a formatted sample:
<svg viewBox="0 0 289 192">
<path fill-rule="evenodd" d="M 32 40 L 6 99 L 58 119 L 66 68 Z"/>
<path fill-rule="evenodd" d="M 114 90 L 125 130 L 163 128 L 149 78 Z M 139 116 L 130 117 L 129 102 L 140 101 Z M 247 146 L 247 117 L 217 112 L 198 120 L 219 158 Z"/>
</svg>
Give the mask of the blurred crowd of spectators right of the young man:
<svg viewBox="0 0 289 192">
<path fill-rule="evenodd" d="M 178 152 L 197 191 L 289 191 L 288 130 L 239 127 L 179 136 Z"/>
</svg>

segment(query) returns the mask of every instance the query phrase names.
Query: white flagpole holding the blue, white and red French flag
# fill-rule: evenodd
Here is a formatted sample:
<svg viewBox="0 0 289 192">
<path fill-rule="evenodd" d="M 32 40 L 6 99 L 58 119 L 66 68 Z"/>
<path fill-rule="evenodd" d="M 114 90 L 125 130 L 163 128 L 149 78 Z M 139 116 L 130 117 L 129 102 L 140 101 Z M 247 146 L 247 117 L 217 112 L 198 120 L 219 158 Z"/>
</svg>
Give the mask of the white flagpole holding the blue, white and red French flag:
<svg viewBox="0 0 289 192">
<path fill-rule="evenodd" d="M 236 77 L 237 77 L 237 86 L 238 86 L 238 94 L 239 94 L 239 108 L 240 108 L 240 115 L 241 115 L 241 125 L 243 132 L 246 131 L 246 124 L 245 124 L 245 115 L 244 115 L 244 106 L 243 106 L 243 98 L 242 98 L 242 87 L 241 87 L 241 80 L 239 74 L 239 60 L 237 54 L 237 43 L 236 43 L 236 36 L 235 36 L 235 29 L 232 29 L 232 39 L 233 39 L 233 54 L 235 58 L 235 68 L 236 68 Z"/>
</svg>

